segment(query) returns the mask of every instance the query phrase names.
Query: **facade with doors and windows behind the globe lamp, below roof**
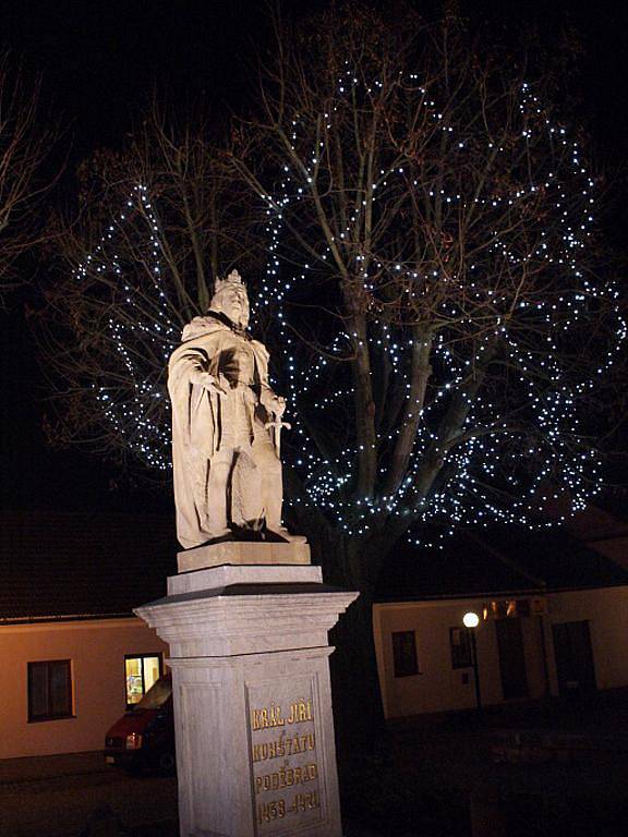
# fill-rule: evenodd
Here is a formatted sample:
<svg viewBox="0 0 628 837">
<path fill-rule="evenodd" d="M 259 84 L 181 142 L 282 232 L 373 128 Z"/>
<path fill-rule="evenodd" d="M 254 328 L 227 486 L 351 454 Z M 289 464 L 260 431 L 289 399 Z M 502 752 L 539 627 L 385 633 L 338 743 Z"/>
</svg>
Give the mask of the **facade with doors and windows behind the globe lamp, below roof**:
<svg viewBox="0 0 628 837">
<path fill-rule="evenodd" d="M 474 708 L 475 671 L 483 706 L 628 687 L 628 586 L 378 604 L 374 635 L 388 719 Z"/>
</svg>

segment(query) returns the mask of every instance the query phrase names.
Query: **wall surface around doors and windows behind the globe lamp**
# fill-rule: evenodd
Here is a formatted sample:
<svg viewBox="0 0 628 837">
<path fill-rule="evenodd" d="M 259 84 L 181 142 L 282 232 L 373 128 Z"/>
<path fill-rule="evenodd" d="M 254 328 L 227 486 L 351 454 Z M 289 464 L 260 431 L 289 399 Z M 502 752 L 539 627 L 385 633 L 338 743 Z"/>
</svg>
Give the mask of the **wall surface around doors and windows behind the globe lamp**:
<svg viewBox="0 0 628 837">
<path fill-rule="evenodd" d="M 472 668 L 451 667 L 449 628 L 461 626 L 462 617 L 469 610 L 481 615 L 483 604 L 490 598 L 521 599 L 526 596 L 484 596 L 478 599 L 374 606 L 375 648 L 384 713 L 387 718 L 475 706 Z M 547 594 L 545 598 L 547 614 L 544 617 L 531 616 L 520 619 L 530 699 L 543 698 L 547 691 L 554 695 L 558 693 L 552 624 L 559 622 L 589 621 L 599 689 L 628 686 L 628 587 L 567 591 Z M 416 632 L 420 674 L 396 678 L 391 634 L 394 631 L 410 630 Z M 481 621 L 476 629 L 476 640 L 482 703 L 502 703 L 495 622 Z M 464 672 L 468 672 L 467 683 L 463 682 Z"/>
</svg>

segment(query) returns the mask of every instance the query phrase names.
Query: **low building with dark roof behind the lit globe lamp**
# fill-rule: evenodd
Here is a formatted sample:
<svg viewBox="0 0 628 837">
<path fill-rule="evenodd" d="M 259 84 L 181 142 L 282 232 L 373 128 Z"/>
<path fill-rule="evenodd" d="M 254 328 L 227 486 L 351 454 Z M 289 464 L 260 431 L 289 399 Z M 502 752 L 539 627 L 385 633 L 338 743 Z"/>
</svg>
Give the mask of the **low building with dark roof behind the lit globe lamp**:
<svg viewBox="0 0 628 837">
<path fill-rule="evenodd" d="M 613 539 L 602 554 L 564 531 L 509 530 L 401 556 L 373 611 L 386 718 L 475 707 L 473 640 L 484 706 L 627 687 L 628 571 Z"/>
</svg>

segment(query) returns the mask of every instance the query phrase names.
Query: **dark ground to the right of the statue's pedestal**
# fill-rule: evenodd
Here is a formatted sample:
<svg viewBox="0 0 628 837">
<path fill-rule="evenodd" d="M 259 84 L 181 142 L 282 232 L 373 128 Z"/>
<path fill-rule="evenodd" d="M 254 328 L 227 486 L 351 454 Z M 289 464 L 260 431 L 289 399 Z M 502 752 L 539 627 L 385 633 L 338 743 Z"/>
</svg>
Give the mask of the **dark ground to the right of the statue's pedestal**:
<svg viewBox="0 0 628 837">
<path fill-rule="evenodd" d="M 383 743 L 369 786 L 345 804 L 358 818 L 370 803 L 382 837 L 628 835 L 626 690 L 414 719 Z"/>
</svg>

